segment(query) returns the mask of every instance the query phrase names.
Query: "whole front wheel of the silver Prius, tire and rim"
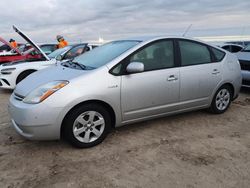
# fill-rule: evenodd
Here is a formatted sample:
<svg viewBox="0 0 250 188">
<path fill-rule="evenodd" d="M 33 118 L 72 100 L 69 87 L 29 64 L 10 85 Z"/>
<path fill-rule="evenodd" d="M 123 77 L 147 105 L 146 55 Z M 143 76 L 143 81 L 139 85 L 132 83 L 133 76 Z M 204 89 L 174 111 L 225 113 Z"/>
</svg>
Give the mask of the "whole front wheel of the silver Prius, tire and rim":
<svg viewBox="0 0 250 188">
<path fill-rule="evenodd" d="M 109 112 L 101 105 L 86 104 L 71 111 L 63 122 L 63 137 L 74 147 L 100 144 L 111 130 Z"/>
</svg>

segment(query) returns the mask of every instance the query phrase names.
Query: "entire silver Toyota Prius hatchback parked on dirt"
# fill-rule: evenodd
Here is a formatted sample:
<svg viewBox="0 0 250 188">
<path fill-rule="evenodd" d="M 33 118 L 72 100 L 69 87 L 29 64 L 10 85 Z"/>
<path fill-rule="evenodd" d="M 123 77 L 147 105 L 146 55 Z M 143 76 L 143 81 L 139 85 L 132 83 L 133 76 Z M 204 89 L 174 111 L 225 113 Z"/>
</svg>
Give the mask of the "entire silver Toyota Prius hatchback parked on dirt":
<svg viewBox="0 0 250 188">
<path fill-rule="evenodd" d="M 86 148 L 125 124 L 197 109 L 223 113 L 241 80 L 235 55 L 194 39 L 118 40 L 27 77 L 9 113 L 27 139 Z"/>
</svg>

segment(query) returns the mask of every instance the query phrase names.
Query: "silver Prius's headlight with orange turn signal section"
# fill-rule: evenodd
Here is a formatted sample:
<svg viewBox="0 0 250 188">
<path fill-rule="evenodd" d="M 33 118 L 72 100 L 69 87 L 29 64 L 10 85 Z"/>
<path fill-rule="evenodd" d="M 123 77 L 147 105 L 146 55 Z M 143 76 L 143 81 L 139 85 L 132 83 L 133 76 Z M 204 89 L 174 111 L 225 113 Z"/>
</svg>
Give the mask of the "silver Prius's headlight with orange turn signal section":
<svg viewBox="0 0 250 188">
<path fill-rule="evenodd" d="M 34 91 L 30 92 L 24 99 L 23 102 L 29 104 L 38 104 L 45 99 L 47 99 L 50 95 L 58 91 L 59 89 L 66 86 L 69 82 L 68 81 L 54 81 L 42 85 L 35 89 Z"/>
</svg>

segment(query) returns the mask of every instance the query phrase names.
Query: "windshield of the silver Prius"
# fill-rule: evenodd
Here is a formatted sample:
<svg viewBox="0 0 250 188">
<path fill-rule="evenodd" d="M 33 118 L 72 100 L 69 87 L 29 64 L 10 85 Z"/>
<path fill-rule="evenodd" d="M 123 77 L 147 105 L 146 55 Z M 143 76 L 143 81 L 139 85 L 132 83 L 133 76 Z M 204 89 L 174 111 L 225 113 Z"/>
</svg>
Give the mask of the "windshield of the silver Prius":
<svg viewBox="0 0 250 188">
<path fill-rule="evenodd" d="M 76 57 L 73 61 L 86 67 L 98 68 L 109 63 L 139 42 L 132 40 L 110 42 Z"/>
</svg>

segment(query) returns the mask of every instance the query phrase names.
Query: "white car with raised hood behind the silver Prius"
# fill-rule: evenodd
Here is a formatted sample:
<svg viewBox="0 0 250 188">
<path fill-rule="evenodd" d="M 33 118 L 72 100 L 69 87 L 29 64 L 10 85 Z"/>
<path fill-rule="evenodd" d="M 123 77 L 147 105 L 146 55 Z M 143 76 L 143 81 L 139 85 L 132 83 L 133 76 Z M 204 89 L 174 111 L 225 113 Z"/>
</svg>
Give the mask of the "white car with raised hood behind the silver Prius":
<svg viewBox="0 0 250 188">
<path fill-rule="evenodd" d="M 59 57 L 58 59 L 60 61 L 64 61 L 73 59 L 85 51 L 92 49 L 91 45 L 82 43 L 58 49 L 47 56 L 31 39 L 24 35 L 19 29 L 15 29 L 18 34 L 41 53 L 43 58 L 38 60 L 15 61 L 0 65 L 0 88 L 15 89 L 16 85 L 31 73 L 55 65 L 57 62 L 56 57 Z"/>
</svg>

